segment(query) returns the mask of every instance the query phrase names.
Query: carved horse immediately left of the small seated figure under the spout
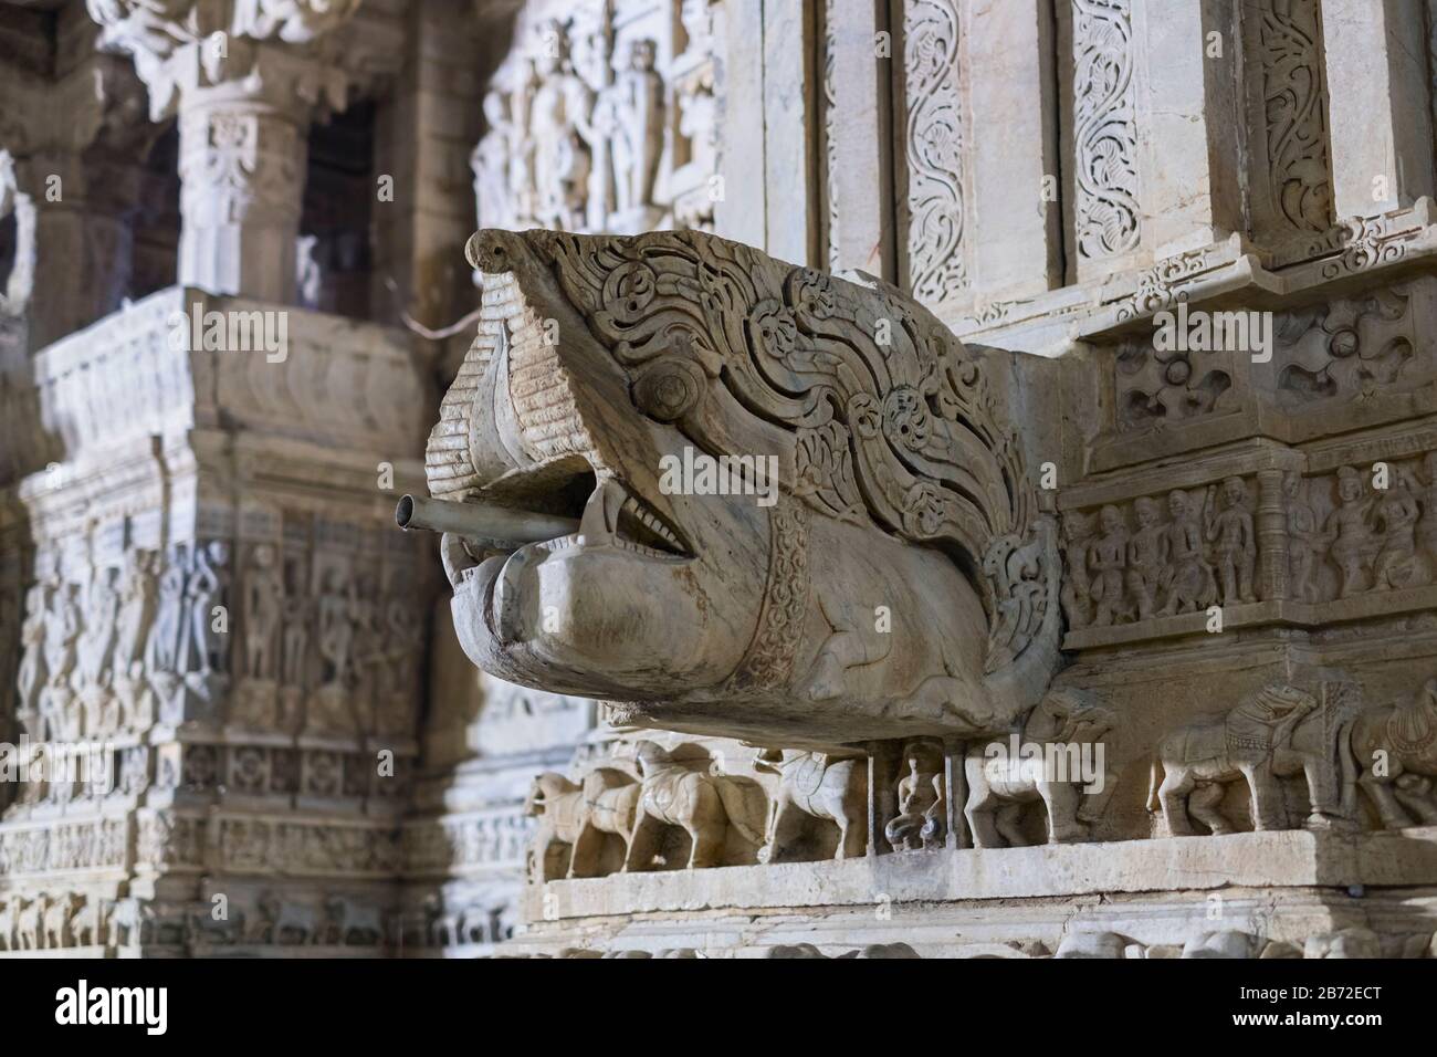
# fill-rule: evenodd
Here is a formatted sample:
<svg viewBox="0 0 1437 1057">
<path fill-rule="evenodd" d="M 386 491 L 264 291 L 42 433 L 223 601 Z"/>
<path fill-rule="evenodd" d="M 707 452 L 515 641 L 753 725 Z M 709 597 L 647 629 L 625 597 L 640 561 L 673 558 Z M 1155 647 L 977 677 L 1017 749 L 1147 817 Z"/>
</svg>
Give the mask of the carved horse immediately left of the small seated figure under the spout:
<svg viewBox="0 0 1437 1057">
<path fill-rule="evenodd" d="M 759 853 L 764 863 L 789 860 L 802 840 L 808 820 L 838 825 L 835 859 L 861 857 L 868 846 L 868 761 L 826 752 L 760 752 L 754 769 L 779 775 L 767 841 Z"/>
</svg>

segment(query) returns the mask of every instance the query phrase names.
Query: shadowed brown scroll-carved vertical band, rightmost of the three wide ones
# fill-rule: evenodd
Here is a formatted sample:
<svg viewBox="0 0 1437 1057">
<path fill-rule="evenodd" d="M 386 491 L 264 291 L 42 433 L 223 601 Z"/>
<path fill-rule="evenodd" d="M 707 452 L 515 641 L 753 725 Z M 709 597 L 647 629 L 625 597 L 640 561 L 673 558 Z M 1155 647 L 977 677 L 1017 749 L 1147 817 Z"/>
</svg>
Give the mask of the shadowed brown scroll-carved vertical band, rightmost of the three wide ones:
<svg viewBox="0 0 1437 1057">
<path fill-rule="evenodd" d="M 1269 197 L 1290 227 L 1325 232 L 1332 186 L 1319 6 L 1263 0 L 1244 17 L 1256 22 L 1262 59 Z"/>
</svg>

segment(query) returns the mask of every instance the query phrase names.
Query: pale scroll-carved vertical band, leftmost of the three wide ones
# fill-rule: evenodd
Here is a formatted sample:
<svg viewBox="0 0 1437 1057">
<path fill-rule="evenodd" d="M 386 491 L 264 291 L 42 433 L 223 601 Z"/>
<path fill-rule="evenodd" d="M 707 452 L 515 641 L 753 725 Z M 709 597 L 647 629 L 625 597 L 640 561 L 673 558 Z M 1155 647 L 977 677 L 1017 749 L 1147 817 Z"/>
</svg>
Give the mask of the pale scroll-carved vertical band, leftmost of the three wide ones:
<svg viewBox="0 0 1437 1057">
<path fill-rule="evenodd" d="M 904 4 L 908 285 L 918 301 L 931 306 L 943 305 L 967 286 L 957 60 L 956 0 Z"/>
</svg>

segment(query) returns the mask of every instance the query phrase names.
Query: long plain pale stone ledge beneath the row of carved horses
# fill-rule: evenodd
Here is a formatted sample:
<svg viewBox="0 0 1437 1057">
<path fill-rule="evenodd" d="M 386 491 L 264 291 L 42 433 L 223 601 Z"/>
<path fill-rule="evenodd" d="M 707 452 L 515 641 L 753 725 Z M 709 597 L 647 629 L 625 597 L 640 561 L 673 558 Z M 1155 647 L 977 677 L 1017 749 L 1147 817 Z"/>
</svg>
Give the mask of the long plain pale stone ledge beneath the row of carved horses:
<svg viewBox="0 0 1437 1057">
<path fill-rule="evenodd" d="M 526 902 L 530 920 L 555 920 L 555 915 L 844 907 L 874 905 L 879 896 L 892 903 L 941 903 L 1358 884 L 1437 884 L 1437 827 L 1364 834 L 1288 830 L 611 874 L 532 886 Z"/>
</svg>

